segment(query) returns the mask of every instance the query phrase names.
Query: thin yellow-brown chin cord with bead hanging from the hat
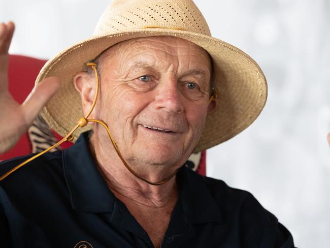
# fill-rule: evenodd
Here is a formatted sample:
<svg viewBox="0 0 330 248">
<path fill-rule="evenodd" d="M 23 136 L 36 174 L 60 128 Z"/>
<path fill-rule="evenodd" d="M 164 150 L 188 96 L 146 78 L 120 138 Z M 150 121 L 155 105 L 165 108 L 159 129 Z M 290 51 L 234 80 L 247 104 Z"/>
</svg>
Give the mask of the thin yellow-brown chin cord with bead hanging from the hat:
<svg viewBox="0 0 330 248">
<path fill-rule="evenodd" d="M 109 130 L 109 127 L 108 125 L 102 121 L 102 120 L 99 120 L 99 119 L 88 119 L 89 115 L 91 114 L 91 112 L 93 111 L 94 107 L 95 107 L 95 104 L 96 104 L 96 100 L 97 100 L 97 96 L 98 96 L 98 91 L 99 91 L 99 88 L 100 88 L 100 77 L 98 76 L 98 73 L 97 73 L 97 70 L 96 70 L 96 64 L 95 63 L 91 63 L 91 62 L 87 62 L 86 63 L 86 66 L 90 66 L 93 71 L 94 71 L 94 74 L 95 74 L 95 81 L 96 81 L 96 92 L 95 92 L 95 96 L 94 96 L 94 99 L 93 99 L 93 103 L 92 103 L 92 106 L 90 107 L 90 110 L 88 112 L 88 114 L 86 114 L 85 117 L 81 117 L 79 120 L 78 120 L 78 123 L 77 125 L 67 134 L 65 135 L 64 138 L 62 138 L 60 141 L 58 141 L 56 144 L 52 145 L 51 147 L 49 147 L 48 149 L 36 154 L 35 156 L 27 159 L 26 161 L 24 161 L 23 163 L 17 165 L 16 167 L 14 167 L 13 169 L 11 169 L 10 171 L 8 171 L 6 174 L 4 174 L 3 176 L 0 177 L 0 181 L 5 179 L 7 176 L 9 176 L 10 174 L 12 174 L 14 171 L 18 170 L 19 168 L 21 168 L 22 166 L 26 165 L 28 162 L 34 160 L 34 159 L 37 159 L 38 157 L 40 157 L 42 154 L 48 152 L 49 150 L 59 146 L 60 144 L 62 144 L 63 142 L 65 141 L 72 141 L 73 140 L 73 136 L 72 134 L 78 129 L 78 128 L 82 128 L 82 127 L 85 127 L 87 125 L 88 122 L 96 122 L 96 123 L 100 123 L 108 132 L 108 135 L 109 135 L 109 138 L 111 140 L 111 143 L 113 145 L 113 147 L 115 148 L 121 162 L 124 164 L 124 166 L 126 167 L 126 169 L 131 173 L 133 174 L 135 177 L 139 178 L 140 180 L 146 182 L 146 183 L 149 183 L 151 185 L 161 185 L 161 184 L 164 184 L 166 183 L 167 181 L 169 181 L 177 172 L 178 170 L 181 168 L 178 168 L 176 169 L 171 175 L 169 175 L 167 178 L 165 178 L 164 180 L 162 181 L 159 181 L 159 182 L 151 182 L 151 181 L 148 181 L 147 179 L 143 178 L 142 176 L 139 176 L 132 168 L 129 167 L 129 165 L 126 163 L 126 161 L 124 160 L 124 158 L 122 157 L 117 145 L 116 145 L 116 142 L 114 141 L 114 139 L 112 138 L 111 136 L 111 133 L 110 133 L 110 130 Z"/>
</svg>

